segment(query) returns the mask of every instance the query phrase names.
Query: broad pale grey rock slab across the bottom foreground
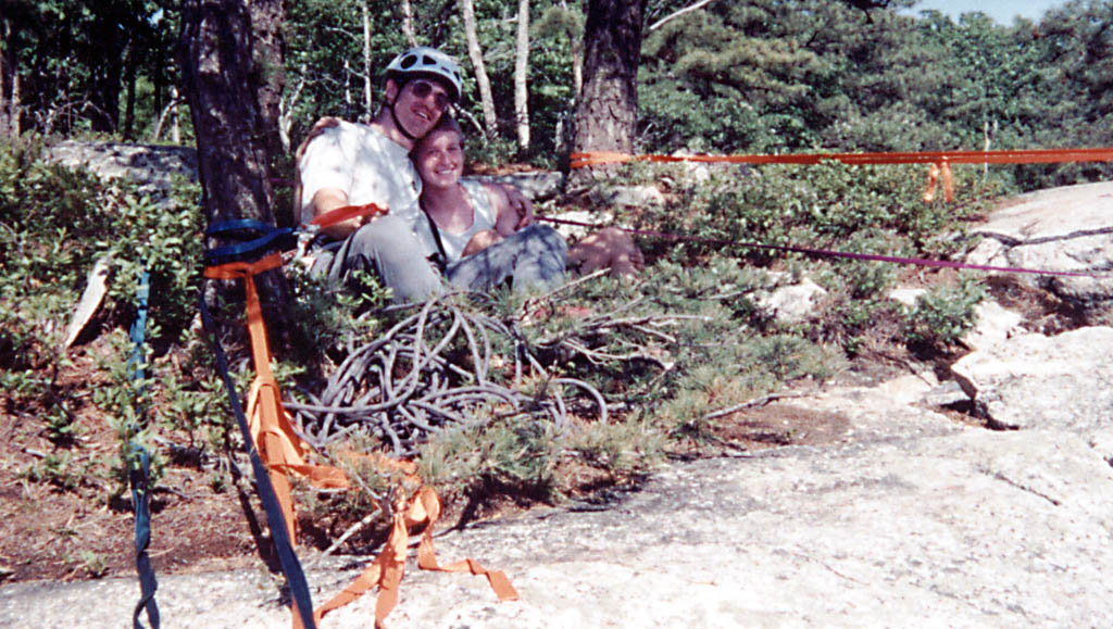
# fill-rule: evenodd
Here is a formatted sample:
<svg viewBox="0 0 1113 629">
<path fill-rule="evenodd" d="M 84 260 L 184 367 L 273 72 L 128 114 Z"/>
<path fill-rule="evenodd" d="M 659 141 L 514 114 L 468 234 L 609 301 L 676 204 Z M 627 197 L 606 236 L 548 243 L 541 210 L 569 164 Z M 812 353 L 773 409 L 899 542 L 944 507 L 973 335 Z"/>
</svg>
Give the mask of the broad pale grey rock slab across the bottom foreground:
<svg viewBox="0 0 1113 629">
<path fill-rule="evenodd" d="M 955 429 L 672 464 L 604 502 L 437 535 L 439 558 L 504 570 L 520 600 L 498 602 L 482 578 L 411 566 L 387 625 L 1106 627 L 1109 442 Z M 361 568 L 337 559 L 311 570 L 314 600 Z M 137 597 L 135 579 L 14 583 L 0 589 L 0 621 L 120 627 Z M 158 603 L 175 627 L 290 618 L 262 570 L 164 576 Z M 373 590 L 323 626 L 368 627 L 374 609 Z"/>
</svg>

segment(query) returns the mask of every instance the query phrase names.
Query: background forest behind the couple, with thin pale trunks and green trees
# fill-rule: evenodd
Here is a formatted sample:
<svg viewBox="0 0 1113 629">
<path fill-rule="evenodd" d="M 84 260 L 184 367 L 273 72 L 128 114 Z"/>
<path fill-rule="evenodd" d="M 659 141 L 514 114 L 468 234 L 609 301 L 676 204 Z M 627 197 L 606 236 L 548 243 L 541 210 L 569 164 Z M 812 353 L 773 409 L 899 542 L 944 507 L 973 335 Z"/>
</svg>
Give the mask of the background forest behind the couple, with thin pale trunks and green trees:
<svg viewBox="0 0 1113 629">
<path fill-rule="evenodd" d="M 886 8 L 857 8 L 870 4 Z M 189 116 L 177 80 L 176 6 L 4 2 L 0 110 L 7 132 L 189 144 Z M 698 10 L 680 12 L 692 6 Z M 914 2 L 904 0 L 647 2 L 638 150 L 1109 144 L 1110 2 L 1074 0 L 1038 22 L 1012 24 L 978 12 L 957 21 L 937 11 L 896 12 L 909 7 Z M 483 111 L 467 13 L 474 18 L 493 118 Z M 325 115 L 366 120 L 376 106 L 380 70 L 396 51 L 420 42 L 441 47 L 463 63 L 461 109 L 491 137 L 491 150 L 498 151 L 493 159 L 556 166 L 568 150 L 582 76 L 583 14 L 579 2 L 564 0 L 290 2 L 282 95 L 285 141 L 303 137 Z M 519 32 L 522 23 L 528 24 L 524 33 Z M 515 67 L 522 41 L 524 72 Z M 521 92 L 515 96 L 522 79 L 524 106 Z M 520 130 L 523 125 L 526 131 Z M 1074 180 L 1078 171 L 1022 167 L 1016 179 L 1031 188 Z"/>
</svg>

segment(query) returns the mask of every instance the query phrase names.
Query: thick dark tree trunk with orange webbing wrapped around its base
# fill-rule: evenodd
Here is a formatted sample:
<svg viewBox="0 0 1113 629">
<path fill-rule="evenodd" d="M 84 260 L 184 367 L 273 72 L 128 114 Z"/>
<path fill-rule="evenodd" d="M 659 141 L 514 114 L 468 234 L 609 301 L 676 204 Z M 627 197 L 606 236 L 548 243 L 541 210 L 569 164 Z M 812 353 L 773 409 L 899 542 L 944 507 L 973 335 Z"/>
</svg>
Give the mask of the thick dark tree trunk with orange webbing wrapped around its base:
<svg viewBox="0 0 1113 629">
<path fill-rule="evenodd" d="M 644 9 L 646 0 L 588 0 L 583 92 L 573 120 L 575 153 L 633 153 Z M 573 170 L 570 185 L 585 183 L 588 170 Z"/>
</svg>

